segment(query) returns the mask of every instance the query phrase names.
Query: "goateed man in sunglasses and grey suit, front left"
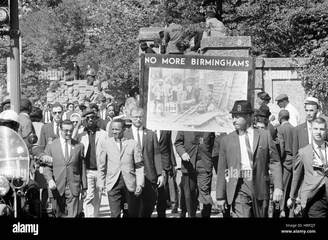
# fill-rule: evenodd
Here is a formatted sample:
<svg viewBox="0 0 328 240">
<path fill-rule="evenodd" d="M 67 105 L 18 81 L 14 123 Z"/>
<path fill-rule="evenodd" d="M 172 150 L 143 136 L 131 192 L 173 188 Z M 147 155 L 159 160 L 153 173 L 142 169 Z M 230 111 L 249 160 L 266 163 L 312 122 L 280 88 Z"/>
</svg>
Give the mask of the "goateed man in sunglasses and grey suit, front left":
<svg viewBox="0 0 328 240">
<path fill-rule="evenodd" d="M 46 147 L 45 153 L 53 157 L 53 161 L 43 169 L 43 175 L 49 186 L 49 197 L 57 206 L 56 217 L 65 214 L 65 206 L 67 217 L 77 217 L 81 188 L 82 198 L 85 198 L 88 186 L 84 146 L 72 139 L 71 121 L 64 120 L 59 127 L 60 137 Z"/>
</svg>

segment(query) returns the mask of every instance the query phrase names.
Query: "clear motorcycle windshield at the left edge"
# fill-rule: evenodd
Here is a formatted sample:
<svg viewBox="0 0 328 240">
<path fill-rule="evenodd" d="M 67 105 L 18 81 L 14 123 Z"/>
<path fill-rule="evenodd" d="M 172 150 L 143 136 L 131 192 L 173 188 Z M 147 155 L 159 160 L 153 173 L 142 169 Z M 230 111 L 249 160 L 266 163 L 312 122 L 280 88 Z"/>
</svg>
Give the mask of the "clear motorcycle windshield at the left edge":
<svg viewBox="0 0 328 240">
<path fill-rule="evenodd" d="M 9 181 L 13 177 L 19 177 L 21 187 L 29 181 L 29 150 L 14 130 L 0 126 L 0 175 Z M 24 181 L 24 182 L 23 182 Z"/>
</svg>

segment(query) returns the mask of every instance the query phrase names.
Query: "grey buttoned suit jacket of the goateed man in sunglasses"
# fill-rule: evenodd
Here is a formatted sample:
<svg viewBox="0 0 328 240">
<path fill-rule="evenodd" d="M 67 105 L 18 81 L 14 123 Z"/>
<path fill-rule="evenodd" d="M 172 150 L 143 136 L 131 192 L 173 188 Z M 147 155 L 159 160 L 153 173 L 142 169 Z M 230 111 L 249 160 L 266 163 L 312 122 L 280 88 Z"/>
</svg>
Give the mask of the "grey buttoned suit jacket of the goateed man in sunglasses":
<svg viewBox="0 0 328 240">
<path fill-rule="evenodd" d="M 82 188 L 87 189 L 87 172 L 84 162 L 84 145 L 74 139 L 71 140 L 71 152 L 68 161 L 65 161 L 60 139 L 48 144 L 45 153 L 53 157 L 53 162 L 43 168 L 43 175 L 47 183 L 54 180 L 57 188 L 48 188 L 49 197 L 60 197 L 65 192 L 66 180 L 74 196 L 78 196 Z"/>
</svg>

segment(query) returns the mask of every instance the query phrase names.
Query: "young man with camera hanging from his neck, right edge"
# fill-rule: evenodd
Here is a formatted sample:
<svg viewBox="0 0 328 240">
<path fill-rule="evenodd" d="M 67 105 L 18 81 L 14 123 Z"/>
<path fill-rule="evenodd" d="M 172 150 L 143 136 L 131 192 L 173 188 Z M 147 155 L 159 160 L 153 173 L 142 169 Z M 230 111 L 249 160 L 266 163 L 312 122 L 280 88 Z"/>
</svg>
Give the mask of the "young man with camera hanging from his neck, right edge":
<svg viewBox="0 0 328 240">
<path fill-rule="evenodd" d="M 323 118 L 311 121 L 312 144 L 298 150 L 293 175 L 289 208 L 295 206 L 295 198 L 304 178 L 301 190 L 302 217 L 327 217 L 327 124 Z"/>
</svg>

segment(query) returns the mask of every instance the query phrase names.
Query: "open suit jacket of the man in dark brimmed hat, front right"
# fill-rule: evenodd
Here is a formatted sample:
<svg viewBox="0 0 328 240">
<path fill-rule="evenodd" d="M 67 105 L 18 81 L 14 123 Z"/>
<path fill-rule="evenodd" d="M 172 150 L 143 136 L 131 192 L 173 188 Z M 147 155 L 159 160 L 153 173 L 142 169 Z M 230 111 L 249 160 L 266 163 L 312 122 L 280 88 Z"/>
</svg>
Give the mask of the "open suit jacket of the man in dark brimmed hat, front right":
<svg viewBox="0 0 328 240">
<path fill-rule="evenodd" d="M 237 131 L 224 136 L 221 140 L 219 163 L 217 167 L 216 198 L 227 198 L 232 204 L 236 192 L 238 177 L 226 180 L 226 170 L 240 169 L 240 144 Z M 282 167 L 270 132 L 254 129 L 253 139 L 253 188 L 256 199 L 270 199 L 270 176 L 273 176 L 275 188 L 283 189 Z"/>
</svg>

